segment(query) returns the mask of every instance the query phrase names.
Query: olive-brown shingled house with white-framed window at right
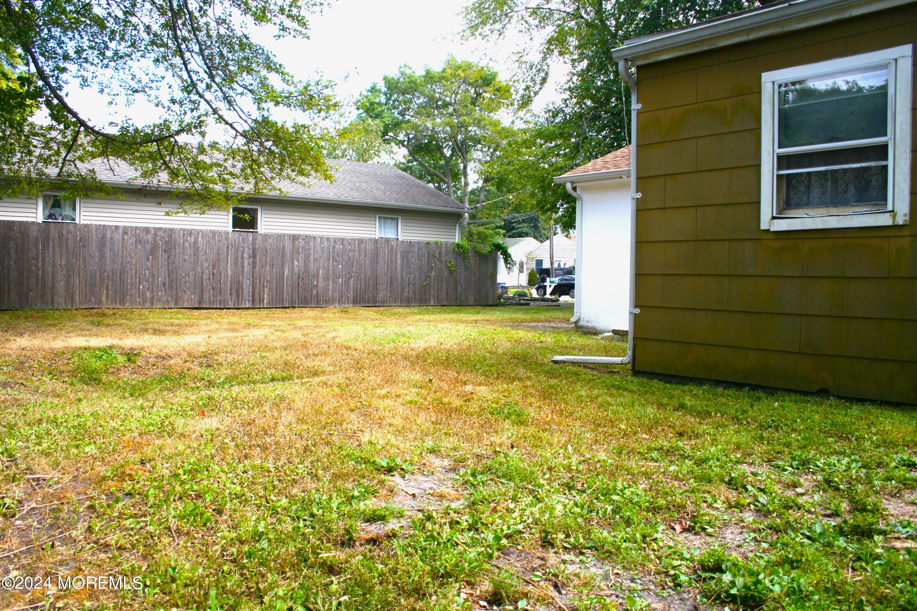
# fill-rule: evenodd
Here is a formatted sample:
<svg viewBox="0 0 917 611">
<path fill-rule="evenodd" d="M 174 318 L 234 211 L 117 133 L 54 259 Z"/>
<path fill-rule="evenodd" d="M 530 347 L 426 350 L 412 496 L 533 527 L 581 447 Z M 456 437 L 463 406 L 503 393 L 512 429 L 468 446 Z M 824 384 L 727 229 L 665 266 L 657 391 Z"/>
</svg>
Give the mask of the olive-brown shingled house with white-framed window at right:
<svg viewBox="0 0 917 611">
<path fill-rule="evenodd" d="M 914 0 L 635 38 L 637 372 L 917 403 Z"/>
</svg>

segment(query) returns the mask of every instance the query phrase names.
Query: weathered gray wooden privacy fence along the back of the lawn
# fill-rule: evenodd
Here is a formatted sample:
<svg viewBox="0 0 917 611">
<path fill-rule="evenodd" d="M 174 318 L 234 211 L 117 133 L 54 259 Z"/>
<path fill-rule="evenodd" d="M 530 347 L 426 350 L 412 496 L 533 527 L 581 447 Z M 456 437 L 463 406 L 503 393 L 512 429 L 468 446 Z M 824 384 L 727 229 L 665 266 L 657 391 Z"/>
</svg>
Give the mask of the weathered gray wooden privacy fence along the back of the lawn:
<svg viewBox="0 0 917 611">
<path fill-rule="evenodd" d="M 481 305 L 495 252 L 318 235 L 0 221 L 0 310 Z"/>
</svg>

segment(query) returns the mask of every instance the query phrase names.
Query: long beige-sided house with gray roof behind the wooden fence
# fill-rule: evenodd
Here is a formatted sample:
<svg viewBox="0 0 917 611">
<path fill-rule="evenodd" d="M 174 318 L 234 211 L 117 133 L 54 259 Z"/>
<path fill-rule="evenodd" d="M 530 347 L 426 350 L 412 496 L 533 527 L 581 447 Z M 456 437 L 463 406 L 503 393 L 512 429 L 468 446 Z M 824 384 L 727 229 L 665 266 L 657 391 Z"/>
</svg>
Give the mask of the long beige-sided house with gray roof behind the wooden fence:
<svg viewBox="0 0 917 611">
<path fill-rule="evenodd" d="M 130 169 L 94 164 L 100 180 L 123 198 L 61 200 L 53 192 L 38 198 L 0 200 L 0 221 L 120 224 L 173 229 L 208 229 L 263 234 L 334 235 L 393 240 L 458 239 L 465 209 L 446 194 L 393 166 L 328 159 L 334 182 L 309 186 L 281 183 L 282 195 L 253 197 L 243 206 L 205 214 L 166 213 L 179 202 L 160 202 L 155 192 L 138 191 Z"/>
</svg>

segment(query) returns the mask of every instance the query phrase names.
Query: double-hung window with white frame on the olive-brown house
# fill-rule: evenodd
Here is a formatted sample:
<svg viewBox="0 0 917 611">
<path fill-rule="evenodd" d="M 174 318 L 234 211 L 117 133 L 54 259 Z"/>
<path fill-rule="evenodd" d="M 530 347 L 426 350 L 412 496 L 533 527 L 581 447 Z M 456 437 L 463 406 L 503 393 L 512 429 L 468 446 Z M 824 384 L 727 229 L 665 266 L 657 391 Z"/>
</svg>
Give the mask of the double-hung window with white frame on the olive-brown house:
<svg viewBox="0 0 917 611">
<path fill-rule="evenodd" d="M 907 224 L 911 45 L 761 76 L 761 229 Z"/>
</svg>

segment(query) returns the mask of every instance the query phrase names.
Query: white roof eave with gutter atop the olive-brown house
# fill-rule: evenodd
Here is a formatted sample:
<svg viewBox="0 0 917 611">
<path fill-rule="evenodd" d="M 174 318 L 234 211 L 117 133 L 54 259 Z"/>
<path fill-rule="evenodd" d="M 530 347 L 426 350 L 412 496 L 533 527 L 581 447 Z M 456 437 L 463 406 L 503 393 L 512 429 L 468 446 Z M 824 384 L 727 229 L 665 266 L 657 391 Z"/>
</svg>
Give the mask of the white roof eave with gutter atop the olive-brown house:
<svg viewBox="0 0 917 611">
<path fill-rule="evenodd" d="M 914 0 L 797 0 L 731 19 L 638 40 L 613 49 L 612 57 L 614 60 L 631 60 L 637 65 L 668 60 L 912 2 Z"/>
</svg>

